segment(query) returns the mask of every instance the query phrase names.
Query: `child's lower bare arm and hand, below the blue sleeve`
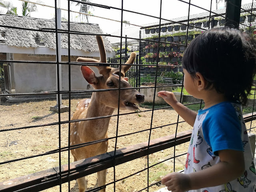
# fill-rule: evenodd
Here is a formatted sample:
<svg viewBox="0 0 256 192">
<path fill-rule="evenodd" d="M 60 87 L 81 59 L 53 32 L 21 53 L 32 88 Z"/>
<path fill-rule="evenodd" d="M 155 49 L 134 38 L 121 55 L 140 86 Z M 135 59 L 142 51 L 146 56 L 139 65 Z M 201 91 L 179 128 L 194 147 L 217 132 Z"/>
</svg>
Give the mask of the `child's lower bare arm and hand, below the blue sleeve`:
<svg viewBox="0 0 256 192">
<path fill-rule="evenodd" d="M 218 186 L 230 182 L 244 172 L 244 154 L 242 151 L 218 151 L 220 160 L 218 164 L 202 171 L 190 174 L 171 173 L 162 178 L 162 183 L 168 190 L 185 192 L 205 187 Z"/>
</svg>

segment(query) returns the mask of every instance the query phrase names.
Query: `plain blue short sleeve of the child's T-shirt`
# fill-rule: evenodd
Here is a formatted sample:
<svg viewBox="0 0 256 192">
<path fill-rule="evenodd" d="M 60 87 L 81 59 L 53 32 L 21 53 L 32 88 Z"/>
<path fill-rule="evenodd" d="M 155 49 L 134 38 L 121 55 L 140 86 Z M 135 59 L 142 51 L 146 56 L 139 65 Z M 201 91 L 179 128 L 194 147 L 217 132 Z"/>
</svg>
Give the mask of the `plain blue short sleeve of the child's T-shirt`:
<svg viewBox="0 0 256 192">
<path fill-rule="evenodd" d="M 204 138 L 214 155 L 218 155 L 219 150 L 244 150 L 241 122 L 231 104 L 209 112 L 202 126 Z"/>
</svg>

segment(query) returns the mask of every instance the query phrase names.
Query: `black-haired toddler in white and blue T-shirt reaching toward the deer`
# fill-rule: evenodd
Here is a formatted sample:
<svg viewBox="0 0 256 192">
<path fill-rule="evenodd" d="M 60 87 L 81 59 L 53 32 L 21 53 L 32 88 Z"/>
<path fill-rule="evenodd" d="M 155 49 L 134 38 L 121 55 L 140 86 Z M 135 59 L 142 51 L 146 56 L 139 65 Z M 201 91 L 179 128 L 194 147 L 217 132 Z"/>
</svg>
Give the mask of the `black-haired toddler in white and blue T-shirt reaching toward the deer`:
<svg viewBox="0 0 256 192">
<path fill-rule="evenodd" d="M 184 88 L 204 100 L 198 114 L 172 92 L 162 97 L 193 132 L 184 173 L 162 183 L 173 192 L 253 192 L 256 173 L 241 104 L 256 73 L 256 42 L 234 28 L 213 28 L 196 37 L 182 58 Z"/>
</svg>

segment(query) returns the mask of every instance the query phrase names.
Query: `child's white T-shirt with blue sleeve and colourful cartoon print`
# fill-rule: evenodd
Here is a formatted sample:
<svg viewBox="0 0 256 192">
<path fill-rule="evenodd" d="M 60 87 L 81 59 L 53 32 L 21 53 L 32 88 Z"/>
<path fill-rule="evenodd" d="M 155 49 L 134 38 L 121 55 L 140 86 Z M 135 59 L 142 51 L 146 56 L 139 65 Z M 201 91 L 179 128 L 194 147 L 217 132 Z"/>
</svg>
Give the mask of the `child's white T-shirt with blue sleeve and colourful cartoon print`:
<svg viewBox="0 0 256 192">
<path fill-rule="evenodd" d="M 244 151 L 244 174 L 220 186 L 189 192 L 254 192 L 255 166 L 240 104 L 221 102 L 198 111 L 184 172 L 189 174 L 214 166 L 220 162 L 218 151 L 226 149 Z"/>
</svg>

